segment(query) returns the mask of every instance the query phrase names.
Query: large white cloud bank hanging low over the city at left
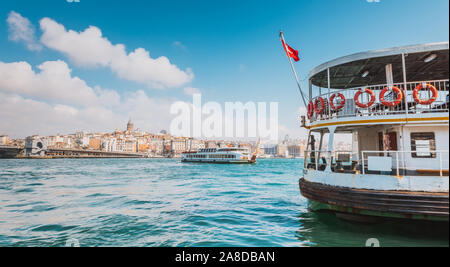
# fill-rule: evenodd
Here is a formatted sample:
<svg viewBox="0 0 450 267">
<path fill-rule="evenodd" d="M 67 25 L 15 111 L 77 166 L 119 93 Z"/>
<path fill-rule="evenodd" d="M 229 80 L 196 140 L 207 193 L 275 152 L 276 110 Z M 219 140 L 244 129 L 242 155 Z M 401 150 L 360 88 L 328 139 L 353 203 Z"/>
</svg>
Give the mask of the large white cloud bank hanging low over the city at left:
<svg viewBox="0 0 450 267">
<path fill-rule="evenodd" d="M 129 116 L 142 130 L 168 129 L 175 100 L 150 98 L 139 90 L 89 87 L 72 77 L 63 61 L 47 61 L 36 73 L 27 62 L 0 62 L 0 130 L 12 137 L 124 128 Z M 123 124 L 123 125 L 122 125 Z"/>
</svg>

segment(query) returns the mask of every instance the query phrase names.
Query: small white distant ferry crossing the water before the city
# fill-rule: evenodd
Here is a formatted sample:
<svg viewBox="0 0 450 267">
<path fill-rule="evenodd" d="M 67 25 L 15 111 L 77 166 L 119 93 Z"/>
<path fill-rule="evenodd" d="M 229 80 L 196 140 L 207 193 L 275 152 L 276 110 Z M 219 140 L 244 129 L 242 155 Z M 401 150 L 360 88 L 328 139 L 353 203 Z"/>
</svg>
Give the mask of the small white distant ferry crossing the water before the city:
<svg viewBox="0 0 450 267">
<path fill-rule="evenodd" d="M 248 148 L 204 148 L 195 152 L 184 152 L 181 162 L 222 163 L 222 164 L 253 164 L 256 163 L 256 153 L 250 154 Z"/>
</svg>

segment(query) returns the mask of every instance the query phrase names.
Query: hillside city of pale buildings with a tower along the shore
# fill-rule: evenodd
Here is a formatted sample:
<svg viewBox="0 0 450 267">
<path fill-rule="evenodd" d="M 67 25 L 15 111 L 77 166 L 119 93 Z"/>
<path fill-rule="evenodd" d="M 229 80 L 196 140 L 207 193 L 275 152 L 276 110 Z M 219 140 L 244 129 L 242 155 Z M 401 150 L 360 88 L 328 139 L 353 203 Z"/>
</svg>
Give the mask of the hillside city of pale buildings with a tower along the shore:
<svg viewBox="0 0 450 267">
<path fill-rule="evenodd" d="M 186 151 L 202 148 L 245 147 L 252 153 L 257 150 L 256 141 L 201 140 L 191 137 L 172 136 L 165 130 L 158 134 L 136 130 L 131 119 L 125 130 L 112 133 L 56 134 L 50 136 L 28 136 L 25 139 L 10 139 L 0 135 L 0 145 L 22 149 L 19 157 L 181 157 Z M 336 144 L 342 150 L 351 150 L 344 142 Z M 259 158 L 301 158 L 306 149 L 306 140 L 286 136 L 277 144 L 259 144 Z M 89 152 L 89 153 L 87 153 Z"/>
</svg>

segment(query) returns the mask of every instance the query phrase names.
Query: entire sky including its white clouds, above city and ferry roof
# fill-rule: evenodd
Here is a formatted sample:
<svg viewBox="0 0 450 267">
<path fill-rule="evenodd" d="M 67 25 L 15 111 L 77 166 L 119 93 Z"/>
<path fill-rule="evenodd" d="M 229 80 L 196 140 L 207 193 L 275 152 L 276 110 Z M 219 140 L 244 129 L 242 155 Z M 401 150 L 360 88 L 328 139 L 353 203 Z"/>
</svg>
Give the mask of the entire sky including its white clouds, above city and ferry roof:
<svg viewBox="0 0 450 267">
<path fill-rule="evenodd" d="M 352 53 L 449 40 L 448 0 L 9 0 L 0 4 L 0 135 L 168 129 L 176 101 L 304 108 L 278 37 L 309 71 Z"/>
</svg>

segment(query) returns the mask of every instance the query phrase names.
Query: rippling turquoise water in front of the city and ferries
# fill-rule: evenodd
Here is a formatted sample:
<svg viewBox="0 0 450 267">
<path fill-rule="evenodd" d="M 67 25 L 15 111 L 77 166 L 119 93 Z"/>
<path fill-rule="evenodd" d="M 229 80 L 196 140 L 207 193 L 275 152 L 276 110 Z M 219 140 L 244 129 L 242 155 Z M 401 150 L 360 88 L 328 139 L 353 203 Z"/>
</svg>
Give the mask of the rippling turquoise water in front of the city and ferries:
<svg viewBox="0 0 450 267">
<path fill-rule="evenodd" d="M 448 233 L 310 213 L 302 160 L 0 160 L 0 246 L 448 246 Z"/>
</svg>

